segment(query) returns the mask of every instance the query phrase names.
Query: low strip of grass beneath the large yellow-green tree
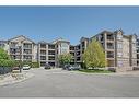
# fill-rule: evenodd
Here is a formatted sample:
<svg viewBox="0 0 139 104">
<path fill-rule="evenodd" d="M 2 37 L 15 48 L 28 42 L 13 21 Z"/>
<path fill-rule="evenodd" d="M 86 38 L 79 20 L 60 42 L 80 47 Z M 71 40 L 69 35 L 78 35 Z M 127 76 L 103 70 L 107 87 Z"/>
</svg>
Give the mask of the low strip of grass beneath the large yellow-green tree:
<svg viewBox="0 0 139 104">
<path fill-rule="evenodd" d="M 89 70 L 89 69 L 82 69 L 79 70 L 81 72 L 86 72 L 86 73 L 112 73 L 112 71 L 108 70 Z"/>
</svg>

